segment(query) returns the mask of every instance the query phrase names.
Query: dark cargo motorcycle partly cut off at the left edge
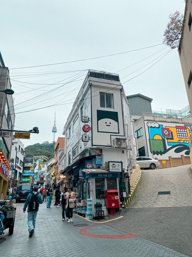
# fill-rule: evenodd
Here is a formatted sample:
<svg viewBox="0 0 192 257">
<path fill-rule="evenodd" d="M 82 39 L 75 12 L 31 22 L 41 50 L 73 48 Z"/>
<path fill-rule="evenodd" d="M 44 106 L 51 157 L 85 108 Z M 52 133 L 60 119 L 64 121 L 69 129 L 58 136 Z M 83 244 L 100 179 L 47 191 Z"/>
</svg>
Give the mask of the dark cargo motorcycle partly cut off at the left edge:
<svg viewBox="0 0 192 257">
<path fill-rule="evenodd" d="M 12 235 L 15 223 L 16 207 L 14 207 L 12 202 L 7 204 L 7 198 L 1 200 L 3 201 L 0 202 L 0 235 L 3 234 L 3 231 L 7 228 L 9 228 L 9 235 Z"/>
</svg>

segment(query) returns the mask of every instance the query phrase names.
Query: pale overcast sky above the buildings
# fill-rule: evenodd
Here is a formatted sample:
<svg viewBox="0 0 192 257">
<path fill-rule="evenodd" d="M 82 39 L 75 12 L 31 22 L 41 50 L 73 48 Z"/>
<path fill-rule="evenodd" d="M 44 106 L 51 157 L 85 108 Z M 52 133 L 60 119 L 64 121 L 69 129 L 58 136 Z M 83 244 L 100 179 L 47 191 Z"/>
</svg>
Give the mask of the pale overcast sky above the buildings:
<svg viewBox="0 0 192 257">
<path fill-rule="evenodd" d="M 88 69 L 118 73 L 126 95 L 152 98 L 153 111 L 187 106 L 178 51 L 160 45 L 169 14 L 184 8 L 183 0 L 1 1 L 0 50 L 15 91 L 15 129 L 40 130 L 22 143 L 51 143 L 55 111 L 55 139 L 63 136 Z M 21 69 L 121 52 L 128 53 Z"/>
</svg>

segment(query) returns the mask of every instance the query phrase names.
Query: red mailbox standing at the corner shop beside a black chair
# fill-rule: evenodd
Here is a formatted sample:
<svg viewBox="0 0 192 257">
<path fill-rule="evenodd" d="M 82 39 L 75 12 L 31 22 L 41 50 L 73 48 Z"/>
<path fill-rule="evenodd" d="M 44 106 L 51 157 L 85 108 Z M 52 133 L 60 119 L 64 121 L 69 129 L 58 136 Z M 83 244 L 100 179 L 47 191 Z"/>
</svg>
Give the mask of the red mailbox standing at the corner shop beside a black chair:
<svg viewBox="0 0 192 257">
<path fill-rule="evenodd" d="M 105 204 L 110 208 L 110 216 L 116 213 L 115 208 L 119 208 L 118 190 L 105 190 Z"/>
</svg>

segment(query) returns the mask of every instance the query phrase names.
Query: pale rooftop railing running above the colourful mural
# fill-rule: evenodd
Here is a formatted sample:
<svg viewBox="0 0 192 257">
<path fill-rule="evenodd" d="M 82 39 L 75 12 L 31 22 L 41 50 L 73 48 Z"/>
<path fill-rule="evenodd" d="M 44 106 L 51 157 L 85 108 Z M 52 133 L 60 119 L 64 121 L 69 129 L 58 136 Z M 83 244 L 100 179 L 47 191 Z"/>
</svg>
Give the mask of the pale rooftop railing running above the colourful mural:
<svg viewBox="0 0 192 257">
<path fill-rule="evenodd" d="M 182 115 L 178 115 L 178 114 L 162 114 L 162 113 L 143 112 L 143 116 L 145 119 L 153 120 L 153 121 L 192 123 L 191 117 L 182 116 Z"/>
</svg>

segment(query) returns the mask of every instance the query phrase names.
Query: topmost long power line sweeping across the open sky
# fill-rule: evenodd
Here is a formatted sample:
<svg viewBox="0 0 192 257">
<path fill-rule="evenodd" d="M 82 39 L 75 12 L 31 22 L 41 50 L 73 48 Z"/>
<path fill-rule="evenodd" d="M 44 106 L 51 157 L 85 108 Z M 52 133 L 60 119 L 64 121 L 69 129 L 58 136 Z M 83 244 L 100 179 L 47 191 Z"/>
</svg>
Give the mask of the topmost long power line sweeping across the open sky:
<svg viewBox="0 0 192 257">
<path fill-rule="evenodd" d="M 158 45 L 163 45 L 163 43 L 158 44 Z M 28 66 L 28 67 L 19 67 L 19 68 L 11 68 L 9 70 L 26 69 L 26 68 L 34 68 L 34 67 L 43 67 L 43 66 L 65 64 L 65 63 L 71 63 L 71 62 L 78 62 L 78 61 L 93 60 L 93 59 L 104 58 L 104 57 L 113 56 L 113 55 L 121 55 L 121 54 L 129 53 L 129 52 L 135 52 L 135 51 L 151 48 L 151 47 L 158 46 L 158 45 L 152 45 L 152 46 L 148 46 L 148 47 L 144 47 L 144 48 L 140 48 L 140 49 L 135 49 L 135 50 L 130 50 L 130 51 L 126 51 L 126 52 L 121 52 L 121 53 L 116 53 L 116 54 L 112 54 L 112 55 L 103 55 L 103 56 L 99 56 L 99 57 L 87 58 L 87 59 L 76 60 L 76 61 L 66 61 L 66 62 L 60 62 L 60 63 L 52 63 L 52 64 L 44 64 L 44 65 L 36 65 L 36 66 Z"/>
</svg>

